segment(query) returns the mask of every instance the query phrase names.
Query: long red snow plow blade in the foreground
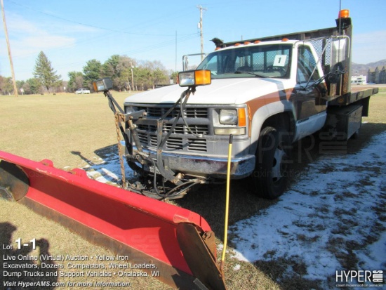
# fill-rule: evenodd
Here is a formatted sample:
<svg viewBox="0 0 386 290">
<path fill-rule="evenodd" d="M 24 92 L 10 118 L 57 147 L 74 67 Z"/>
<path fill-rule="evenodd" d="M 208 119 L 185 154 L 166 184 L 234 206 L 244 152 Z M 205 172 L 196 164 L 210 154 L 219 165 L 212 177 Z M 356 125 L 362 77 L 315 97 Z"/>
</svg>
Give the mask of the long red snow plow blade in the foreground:
<svg viewBox="0 0 386 290">
<path fill-rule="evenodd" d="M 56 169 L 49 160 L 34 162 L 2 151 L 0 160 L 1 197 L 134 263 L 156 265 L 157 278 L 166 284 L 225 289 L 214 234 L 197 213 L 91 180 L 81 169 Z"/>
</svg>

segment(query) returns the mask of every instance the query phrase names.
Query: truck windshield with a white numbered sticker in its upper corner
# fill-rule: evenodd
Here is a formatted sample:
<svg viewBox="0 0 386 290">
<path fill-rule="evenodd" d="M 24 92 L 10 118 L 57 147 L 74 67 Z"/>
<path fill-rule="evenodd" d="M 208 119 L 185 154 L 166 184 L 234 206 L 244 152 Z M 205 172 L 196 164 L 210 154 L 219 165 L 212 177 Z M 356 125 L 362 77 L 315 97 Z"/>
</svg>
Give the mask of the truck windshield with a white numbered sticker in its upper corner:
<svg viewBox="0 0 386 290">
<path fill-rule="evenodd" d="M 211 70 L 212 79 L 230 77 L 289 78 L 291 44 L 240 46 L 210 53 L 197 70 Z"/>
</svg>

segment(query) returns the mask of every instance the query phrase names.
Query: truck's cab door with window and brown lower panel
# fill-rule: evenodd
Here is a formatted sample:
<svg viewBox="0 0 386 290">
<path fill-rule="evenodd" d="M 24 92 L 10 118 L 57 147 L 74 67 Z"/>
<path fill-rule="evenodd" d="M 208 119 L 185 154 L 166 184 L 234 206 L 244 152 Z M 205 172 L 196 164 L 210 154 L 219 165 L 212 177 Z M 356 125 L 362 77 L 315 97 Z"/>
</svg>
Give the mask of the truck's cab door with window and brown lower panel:
<svg viewBox="0 0 386 290">
<path fill-rule="evenodd" d="M 310 117 L 326 111 L 326 86 L 318 84 L 320 79 L 317 62 L 309 46 L 298 47 L 298 67 L 293 100 L 297 121 L 307 121 Z"/>
</svg>

